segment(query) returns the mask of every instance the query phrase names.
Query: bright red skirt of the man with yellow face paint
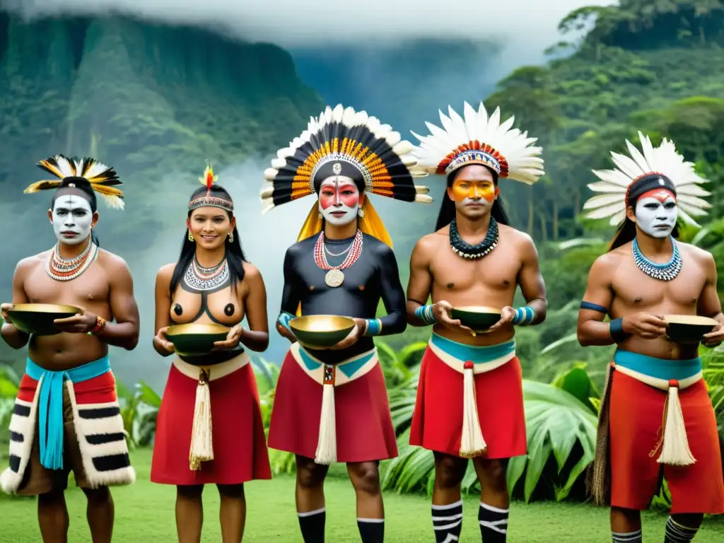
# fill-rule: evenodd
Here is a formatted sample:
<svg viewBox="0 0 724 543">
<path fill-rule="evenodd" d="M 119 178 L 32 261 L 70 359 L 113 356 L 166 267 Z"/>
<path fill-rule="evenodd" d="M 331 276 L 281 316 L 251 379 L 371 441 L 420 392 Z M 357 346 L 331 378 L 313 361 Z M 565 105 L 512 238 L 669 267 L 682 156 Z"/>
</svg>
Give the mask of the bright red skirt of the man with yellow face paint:
<svg viewBox="0 0 724 543">
<path fill-rule="evenodd" d="M 487 443 L 481 458 L 525 455 L 526 413 L 518 357 L 492 371 L 475 374 L 480 429 Z M 428 347 L 422 357 L 410 445 L 460 457 L 463 432 L 463 374 Z"/>
</svg>

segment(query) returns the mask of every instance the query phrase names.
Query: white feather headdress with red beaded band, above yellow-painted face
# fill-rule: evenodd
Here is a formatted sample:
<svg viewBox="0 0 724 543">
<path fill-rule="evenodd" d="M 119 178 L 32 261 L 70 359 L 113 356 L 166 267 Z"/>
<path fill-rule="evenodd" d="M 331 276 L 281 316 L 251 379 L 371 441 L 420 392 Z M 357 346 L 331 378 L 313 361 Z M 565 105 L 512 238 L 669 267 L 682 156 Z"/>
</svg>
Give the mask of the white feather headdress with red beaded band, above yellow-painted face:
<svg viewBox="0 0 724 543">
<path fill-rule="evenodd" d="M 456 169 L 468 164 L 482 164 L 492 168 L 498 177 L 508 177 L 533 185 L 544 174 L 542 149 L 534 147 L 537 138 L 529 138 L 528 132 L 512 128 L 515 117 L 500 123 L 500 108 L 488 117 L 483 103 L 478 111 L 465 103 L 460 117 L 451 106 L 447 106 L 446 117 L 439 111 L 442 128 L 426 122 L 430 135 L 421 136 L 415 156 L 420 165 L 433 174 L 450 175 Z"/>
</svg>

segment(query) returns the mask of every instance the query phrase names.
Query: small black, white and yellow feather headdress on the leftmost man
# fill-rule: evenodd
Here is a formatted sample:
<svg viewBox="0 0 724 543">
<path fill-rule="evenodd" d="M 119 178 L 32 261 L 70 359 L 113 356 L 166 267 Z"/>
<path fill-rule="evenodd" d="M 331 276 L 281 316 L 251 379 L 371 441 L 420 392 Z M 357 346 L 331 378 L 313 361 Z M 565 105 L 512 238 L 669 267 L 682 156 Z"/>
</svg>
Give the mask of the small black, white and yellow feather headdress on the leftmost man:
<svg viewBox="0 0 724 543">
<path fill-rule="evenodd" d="M 75 180 L 90 183 L 93 191 L 103 196 L 111 208 L 124 209 L 123 193 L 114 187 L 121 185 L 113 168 L 101 164 L 96 159 L 72 160 L 67 156 L 56 155 L 38 162 L 38 167 L 58 177 L 57 180 L 34 182 L 23 193 L 37 193 L 41 190 L 56 188 L 75 188 Z M 74 180 L 75 178 L 75 180 Z"/>
</svg>

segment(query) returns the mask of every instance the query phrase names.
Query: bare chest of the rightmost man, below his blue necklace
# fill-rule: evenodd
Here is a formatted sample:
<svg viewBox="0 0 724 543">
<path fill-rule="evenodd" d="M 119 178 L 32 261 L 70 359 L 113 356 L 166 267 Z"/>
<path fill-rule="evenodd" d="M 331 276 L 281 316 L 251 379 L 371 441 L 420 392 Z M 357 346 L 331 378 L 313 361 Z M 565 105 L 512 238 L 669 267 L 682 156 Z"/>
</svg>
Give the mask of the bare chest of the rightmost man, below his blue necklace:
<svg viewBox="0 0 724 543">
<path fill-rule="evenodd" d="M 671 281 L 649 277 L 631 261 L 616 272 L 613 290 L 616 300 L 627 307 L 688 312 L 696 308 L 705 283 L 704 272 L 691 261 Z"/>
</svg>

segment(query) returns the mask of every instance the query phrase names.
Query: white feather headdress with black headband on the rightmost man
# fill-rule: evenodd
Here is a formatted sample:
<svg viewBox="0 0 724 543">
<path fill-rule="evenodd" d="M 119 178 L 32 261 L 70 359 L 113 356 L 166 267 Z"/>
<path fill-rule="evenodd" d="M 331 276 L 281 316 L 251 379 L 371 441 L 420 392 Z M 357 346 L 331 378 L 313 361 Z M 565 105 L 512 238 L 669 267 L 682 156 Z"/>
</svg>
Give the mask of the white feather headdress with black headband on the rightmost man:
<svg viewBox="0 0 724 543">
<path fill-rule="evenodd" d="M 617 169 L 594 170 L 600 181 L 591 183 L 589 188 L 604 193 L 589 198 L 584 210 L 590 210 L 589 219 L 606 219 L 615 225 L 626 219 L 626 208 L 633 198 L 655 188 L 666 188 L 676 195 L 678 214 L 683 221 L 696 227 L 699 224 L 692 215 L 706 215 L 704 211 L 711 204 L 699 196 L 708 196 L 699 184 L 708 182 L 694 172 L 694 164 L 685 162 L 676 152 L 673 141 L 664 140 L 654 148 L 648 136 L 639 132 L 641 151 L 626 140 L 631 156 L 611 152 Z"/>
</svg>

